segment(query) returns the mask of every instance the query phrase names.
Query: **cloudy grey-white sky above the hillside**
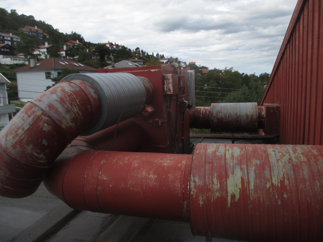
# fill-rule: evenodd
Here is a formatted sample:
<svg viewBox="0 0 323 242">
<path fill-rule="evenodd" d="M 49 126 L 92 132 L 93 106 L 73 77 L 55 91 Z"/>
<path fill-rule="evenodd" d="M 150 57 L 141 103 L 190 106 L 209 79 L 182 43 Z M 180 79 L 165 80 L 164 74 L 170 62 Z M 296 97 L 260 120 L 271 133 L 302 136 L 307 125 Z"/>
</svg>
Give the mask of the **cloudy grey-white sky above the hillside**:
<svg viewBox="0 0 323 242">
<path fill-rule="evenodd" d="M 86 41 L 139 47 L 209 69 L 271 73 L 297 0 L 1 0 Z"/>
</svg>

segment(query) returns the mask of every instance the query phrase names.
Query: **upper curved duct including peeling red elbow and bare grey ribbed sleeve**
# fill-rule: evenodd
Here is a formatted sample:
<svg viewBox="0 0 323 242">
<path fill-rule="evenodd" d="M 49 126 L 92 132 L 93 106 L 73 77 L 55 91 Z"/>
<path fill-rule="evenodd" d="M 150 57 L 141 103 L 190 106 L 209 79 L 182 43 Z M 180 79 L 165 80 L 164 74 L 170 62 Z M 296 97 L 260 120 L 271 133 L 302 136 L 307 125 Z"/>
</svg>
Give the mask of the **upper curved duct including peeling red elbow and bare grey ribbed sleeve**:
<svg viewBox="0 0 323 242">
<path fill-rule="evenodd" d="M 52 162 L 78 135 L 140 114 L 152 98 L 144 78 L 74 74 L 36 97 L 0 133 L 0 195 L 34 193 Z"/>
</svg>

